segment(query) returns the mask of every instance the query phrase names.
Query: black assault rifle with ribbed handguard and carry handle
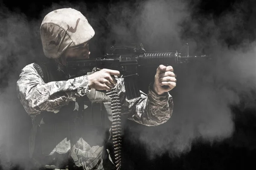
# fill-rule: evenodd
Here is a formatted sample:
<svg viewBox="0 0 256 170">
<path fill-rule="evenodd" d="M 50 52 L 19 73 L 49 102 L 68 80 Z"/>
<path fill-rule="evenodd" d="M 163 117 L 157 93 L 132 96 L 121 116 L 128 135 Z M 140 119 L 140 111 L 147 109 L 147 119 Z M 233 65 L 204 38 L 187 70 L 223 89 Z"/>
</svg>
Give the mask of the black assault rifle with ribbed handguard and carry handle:
<svg viewBox="0 0 256 170">
<path fill-rule="evenodd" d="M 189 46 L 186 51 L 154 51 L 146 52 L 142 43 L 111 45 L 110 52 L 101 58 L 68 59 L 67 70 L 70 75 L 84 75 L 93 68 L 117 70 L 124 78 L 125 91 L 128 99 L 140 97 L 138 88 L 138 68 L 140 66 L 172 65 L 174 63 L 194 62 L 198 59 L 210 59 L 209 55 L 189 56 Z"/>
</svg>

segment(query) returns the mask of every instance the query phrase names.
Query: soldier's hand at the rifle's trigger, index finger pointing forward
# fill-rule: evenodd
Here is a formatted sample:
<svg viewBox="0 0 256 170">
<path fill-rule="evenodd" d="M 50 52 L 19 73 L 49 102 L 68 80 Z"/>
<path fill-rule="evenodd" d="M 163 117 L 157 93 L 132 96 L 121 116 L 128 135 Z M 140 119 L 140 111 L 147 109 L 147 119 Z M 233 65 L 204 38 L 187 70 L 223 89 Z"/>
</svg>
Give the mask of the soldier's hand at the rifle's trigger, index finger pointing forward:
<svg viewBox="0 0 256 170">
<path fill-rule="evenodd" d="M 88 75 L 89 89 L 110 91 L 116 85 L 116 79 L 111 75 L 120 76 L 120 72 L 110 69 L 102 69 L 93 74 Z"/>
</svg>

